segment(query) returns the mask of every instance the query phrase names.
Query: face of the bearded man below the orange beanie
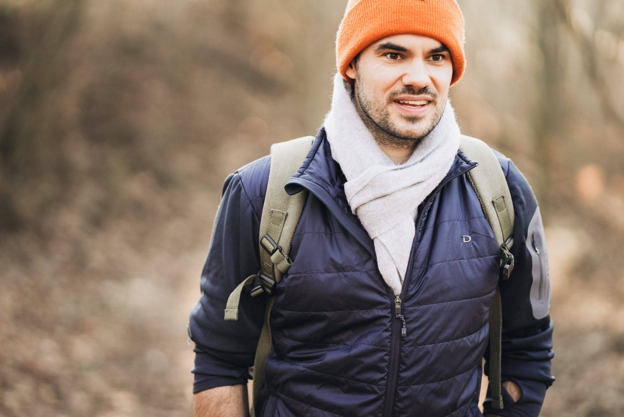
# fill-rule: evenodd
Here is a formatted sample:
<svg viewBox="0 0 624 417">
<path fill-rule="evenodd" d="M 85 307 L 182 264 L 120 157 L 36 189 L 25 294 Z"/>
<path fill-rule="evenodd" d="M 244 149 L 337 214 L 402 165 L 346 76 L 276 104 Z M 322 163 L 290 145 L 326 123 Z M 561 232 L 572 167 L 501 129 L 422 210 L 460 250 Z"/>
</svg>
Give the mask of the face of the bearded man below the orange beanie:
<svg viewBox="0 0 624 417">
<path fill-rule="evenodd" d="M 453 75 L 451 54 L 427 36 L 400 34 L 370 44 L 346 74 L 358 107 L 381 130 L 413 142 L 437 125 Z"/>
</svg>

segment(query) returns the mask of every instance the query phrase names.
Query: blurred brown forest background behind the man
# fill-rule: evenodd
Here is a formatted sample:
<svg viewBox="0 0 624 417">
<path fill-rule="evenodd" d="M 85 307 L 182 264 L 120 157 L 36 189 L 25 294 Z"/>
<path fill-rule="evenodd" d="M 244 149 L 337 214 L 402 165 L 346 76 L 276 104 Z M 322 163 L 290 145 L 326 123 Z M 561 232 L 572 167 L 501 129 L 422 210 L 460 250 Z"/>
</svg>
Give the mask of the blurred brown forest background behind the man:
<svg viewBox="0 0 624 417">
<path fill-rule="evenodd" d="M 464 134 L 529 179 L 557 378 L 624 415 L 624 2 L 459 0 Z M 0 416 L 187 416 L 225 176 L 329 110 L 346 0 L 0 0 Z"/>
</svg>

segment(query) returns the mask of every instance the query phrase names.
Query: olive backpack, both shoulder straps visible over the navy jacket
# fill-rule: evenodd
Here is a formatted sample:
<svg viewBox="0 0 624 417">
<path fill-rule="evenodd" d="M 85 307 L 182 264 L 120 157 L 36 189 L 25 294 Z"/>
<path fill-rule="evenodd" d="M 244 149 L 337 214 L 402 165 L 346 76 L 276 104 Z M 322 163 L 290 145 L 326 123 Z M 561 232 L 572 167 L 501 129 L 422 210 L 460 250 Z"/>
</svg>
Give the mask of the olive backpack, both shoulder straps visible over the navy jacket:
<svg viewBox="0 0 624 417">
<path fill-rule="evenodd" d="M 251 286 L 251 297 L 257 297 L 262 293 L 266 293 L 267 296 L 263 327 L 256 348 L 254 364 L 250 368 L 250 374 L 253 375 L 251 417 L 256 415 L 255 406 L 265 380 L 265 361 L 272 346 L 270 315 L 275 301 L 274 287 L 292 264 L 288 257 L 291 240 L 308 196 L 306 189 L 295 195 L 288 195 L 284 190 L 284 185 L 305 161 L 313 140 L 313 136 L 305 136 L 271 145 L 269 180 L 260 219 L 261 268 L 258 273 L 245 278 L 233 290 L 225 308 L 225 320 L 238 320 L 238 303 L 243 287 Z M 496 155 L 482 140 L 461 135 L 460 149 L 470 160 L 478 163 L 474 169 L 467 172 L 467 175 L 500 247 L 500 278 L 507 280 L 514 268 L 514 256 L 510 252 L 514 243 L 512 234 L 514 206 L 507 180 Z M 492 407 L 502 409 L 500 383 L 502 312 L 498 284 L 494 302 L 490 308 L 489 323 L 489 381 Z"/>
</svg>

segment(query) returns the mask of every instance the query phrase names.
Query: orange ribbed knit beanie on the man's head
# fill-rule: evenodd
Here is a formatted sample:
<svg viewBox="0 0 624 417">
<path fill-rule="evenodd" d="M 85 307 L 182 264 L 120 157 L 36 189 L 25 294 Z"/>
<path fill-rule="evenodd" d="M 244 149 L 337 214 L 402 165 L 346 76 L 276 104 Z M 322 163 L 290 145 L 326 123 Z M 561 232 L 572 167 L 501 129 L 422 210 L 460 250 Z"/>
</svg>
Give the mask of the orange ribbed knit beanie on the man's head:
<svg viewBox="0 0 624 417">
<path fill-rule="evenodd" d="M 411 33 L 429 36 L 449 48 L 453 61 L 451 86 L 461 78 L 464 57 L 464 16 L 456 0 L 349 0 L 336 36 L 336 67 L 346 71 L 351 60 L 379 39 Z"/>
</svg>

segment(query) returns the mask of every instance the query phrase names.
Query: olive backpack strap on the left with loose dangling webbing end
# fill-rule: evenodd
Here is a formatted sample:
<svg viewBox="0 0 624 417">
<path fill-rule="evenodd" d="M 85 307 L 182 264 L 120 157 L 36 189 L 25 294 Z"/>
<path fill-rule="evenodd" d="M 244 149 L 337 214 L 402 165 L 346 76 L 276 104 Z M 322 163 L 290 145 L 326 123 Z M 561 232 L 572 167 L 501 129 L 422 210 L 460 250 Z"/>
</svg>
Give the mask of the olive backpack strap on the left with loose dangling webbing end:
<svg viewBox="0 0 624 417">
<path fill-rule="evenodd" d="M 275 301 L 274 287 L 288 271 L 290 243 L 299 223 L 308 190 L 289 195 L 284 186 L 301 167 L 314 136 L 305 136 L 271 145 L 271 167 L 266 185 L 265 202 L 260 219 L 260 270 L 245 278 L 228 297 L 225 320 L 238 320 L 238 303 L 243 287 L 251 285 L 251 297 L 266 293 L 266 307 L 260 339 L 253 362 L 253 398 L 250 416 L 255 417 L 258 396 L 265 381 L 266 357 L 271 351 L 270 316 Z"/>
</svg>

